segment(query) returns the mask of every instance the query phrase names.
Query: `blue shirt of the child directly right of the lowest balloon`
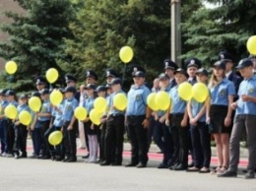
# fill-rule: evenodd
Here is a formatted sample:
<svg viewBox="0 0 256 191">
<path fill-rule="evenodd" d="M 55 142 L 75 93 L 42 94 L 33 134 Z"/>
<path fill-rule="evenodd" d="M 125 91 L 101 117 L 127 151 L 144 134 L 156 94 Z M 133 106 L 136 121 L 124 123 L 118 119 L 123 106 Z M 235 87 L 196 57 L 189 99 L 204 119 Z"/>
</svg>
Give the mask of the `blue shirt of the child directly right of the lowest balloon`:
<svg viewBox="0 0 256 191">
<path fill-rule="evenodd" d="M 78 100 L 73 96 L 72 98 L 66 98 L 63 106 L 63 121 L 71 121 L 74 115 L 74 111 L 78 106 Z"/>
</svg>

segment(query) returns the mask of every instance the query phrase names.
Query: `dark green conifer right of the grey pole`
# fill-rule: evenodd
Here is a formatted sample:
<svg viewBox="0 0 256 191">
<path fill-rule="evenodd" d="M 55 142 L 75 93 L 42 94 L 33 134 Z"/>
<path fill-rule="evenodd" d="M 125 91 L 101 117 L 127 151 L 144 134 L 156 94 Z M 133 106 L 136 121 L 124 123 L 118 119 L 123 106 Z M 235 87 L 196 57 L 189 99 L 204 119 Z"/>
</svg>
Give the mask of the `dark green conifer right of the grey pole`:
<svg viewBox="0 0 256 191">
<path fill-rule="evenodd" d="M 256 1 L 208 0 L 213 8 L 193 12 L 184 21 L 182 32 L 188 48 L 183 58 L 197 56 L 210 64 L 217 60 L 221 50 L 227 50 L 238 61 L 248 56 L 246 40 L 255 34 Z"/>
</svg>

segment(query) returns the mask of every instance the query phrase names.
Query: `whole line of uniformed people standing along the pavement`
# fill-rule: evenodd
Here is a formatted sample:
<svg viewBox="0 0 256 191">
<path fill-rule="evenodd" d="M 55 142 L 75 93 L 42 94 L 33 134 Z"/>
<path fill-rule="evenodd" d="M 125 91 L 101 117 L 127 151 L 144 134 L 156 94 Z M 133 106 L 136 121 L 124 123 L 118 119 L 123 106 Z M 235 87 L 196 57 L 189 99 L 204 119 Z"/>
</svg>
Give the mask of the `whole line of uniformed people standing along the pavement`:
<svg viewBox="0 0 256 191">
<path fill-rule="evenodd" d="M 173 170 L 199 171 L 209 173 L 211 164 L 211 134 L 217 146 L 218 167 L 212 173 L 219 177 L 236 176 L 239 159 L 239 140 L 243 129 L 247 131 L 249 164 L 246 178 L 254 177 L 256 167 L 256 141 L 253 126 L 256 112 L 256 77 L 253 74 L 254 57 L 240 61 L 236 69 L 240 75 L 232 72 L 233 58 L 227 52 L 219 54 L 219 61 L 213 65 L 213 74 L 202 68 L 197 58 L 186 60 L 187 70 L 169 59 L 164 60 L 164 73 L 154 81 L 152 91 L 145 85 L 145 70 L 133 68 L 133 81 L 127 94 L 128 106 L 125 111 L 118 110 L 113 104 L 116 94 L 124 94 L 122 80 L 113 70 L 107 70 L 106 86 L 96 87 L 96 72 L 88 70 L 86 85 L 76 90 L 76 79 L 66 75 L 67 87 L 59 89 L 65 97 L 58 106 L 49 101 L 50 90 L 42 77 L 36 80 L 37 92 L 42 106 L 39 112 L 32 112 L 33 120 L 29 127 L 22 125 L 19 119 L 6 119 L 3 110 L 8 104 L 18 106 L 15 93 L 3 90 L 0 93 L 0 139 L 1 156 L 14 156 L 16 159 L 27 158 L 26 142 L 28 130 L 32 133 L 33 155 L 36 159 L 53 159 L 73 162 L 77 160 L 77 127 L 81 148 L 87 148 L 88 162 L 100 165 L 122 165 L 124 133 L 130 139 L 132 155 L 129 166 L 146 167 L 152 138 L 160 148 L 163 159 L 159 168 Z M 208 82 L 209 79 L 209 82 Z M 204 102 L 195 99 L 185 101 L 178 95 L 178 87 L 184 82 L 194 85 L 204 83 L 209 88 L 210 96 Z M 241 85 L 240 85 L 241 83 Z M 152 111 L 147 97 L 152 92 L 164 91 L 171 99 L 167 110 Z M 95 125 L 87 116 L 84 121 L 77 121 L 74 111 L 78 105 L 84 106 L 88 113 L 94 108 L 96 96 L 105 97 L 108 109 Z M 19 96 L 18 113 L 30 110 L 28 97 Z M 48 136 L 55 130 L 63 132 L 63 141 L 53 147 L 48 143 Z M 231 139 L 229 140 L 229 136 Z M 97 150 L 99 148 L 99 160 Z M 20 154 L 21 152 L 21 154 Z M 188 164 L 188 155 L 193 162 Z M 87 159 L 88 158 L 88 159 Z"/>
</svg>

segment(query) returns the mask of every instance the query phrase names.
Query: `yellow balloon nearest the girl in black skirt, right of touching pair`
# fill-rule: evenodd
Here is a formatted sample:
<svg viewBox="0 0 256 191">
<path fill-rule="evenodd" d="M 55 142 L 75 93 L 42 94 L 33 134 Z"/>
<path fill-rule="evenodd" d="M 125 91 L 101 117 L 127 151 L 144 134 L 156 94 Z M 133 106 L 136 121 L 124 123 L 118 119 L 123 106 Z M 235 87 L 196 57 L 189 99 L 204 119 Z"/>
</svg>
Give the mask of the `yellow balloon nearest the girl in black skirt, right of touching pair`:
<svg viewBox="0 0 256 191">
<path fill-rule="evenodd" d="M 204 102 L 209 96 L 209 90 L 204 83 L 196 83 L 192 87 L 192 97 L 198 102 Z"/>
</svg>

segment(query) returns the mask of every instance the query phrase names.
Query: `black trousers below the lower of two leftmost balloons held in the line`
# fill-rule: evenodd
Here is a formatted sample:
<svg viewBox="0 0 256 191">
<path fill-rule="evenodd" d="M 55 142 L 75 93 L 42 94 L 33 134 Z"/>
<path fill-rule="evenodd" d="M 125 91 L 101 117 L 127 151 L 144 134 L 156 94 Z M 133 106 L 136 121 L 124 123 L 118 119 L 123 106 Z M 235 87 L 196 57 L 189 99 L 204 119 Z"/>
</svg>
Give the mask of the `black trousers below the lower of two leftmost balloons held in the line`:
<svg viewBox="0 0 256 191">
<path fill-rule="evenodd" d="M 20 124 L 14 126 L 15 131 L 15 141 L 14 141 L 14 153 L 20 156 L 20 152 L 22 152 L 22 156 L 27 157 L 27 136 L 28 130 L 27 126 Z"/>
</svg>

